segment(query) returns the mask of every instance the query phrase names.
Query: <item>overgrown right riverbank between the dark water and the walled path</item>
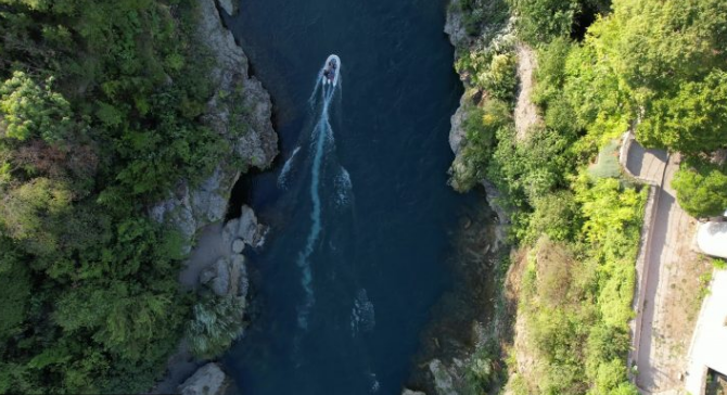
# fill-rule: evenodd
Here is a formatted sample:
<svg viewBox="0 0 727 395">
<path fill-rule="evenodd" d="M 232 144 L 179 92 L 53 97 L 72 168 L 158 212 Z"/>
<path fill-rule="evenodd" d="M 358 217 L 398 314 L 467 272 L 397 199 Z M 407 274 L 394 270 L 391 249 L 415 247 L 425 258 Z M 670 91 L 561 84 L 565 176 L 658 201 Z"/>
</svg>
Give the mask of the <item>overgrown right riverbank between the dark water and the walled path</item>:
<svg viewBox="0 0 727 395">
<path fill-rule="evenodd" d="M 489 377 L 486 391 L 633 393 L 626 352 L 646 190 L 617 170 L 592 170 L 602 143 L 553 113 L 567 110 L 547 101 L 562 84 L 553 59 L 564 55 L 528 36 L 531 11 L 454 1 L 446 28 L 465 87 L 452 117 L 451 184 L 484 188 L 513 246 L 497 291 L 510 301 L 507 328 L 483 369 L 507 373 Z"/>
</svg>

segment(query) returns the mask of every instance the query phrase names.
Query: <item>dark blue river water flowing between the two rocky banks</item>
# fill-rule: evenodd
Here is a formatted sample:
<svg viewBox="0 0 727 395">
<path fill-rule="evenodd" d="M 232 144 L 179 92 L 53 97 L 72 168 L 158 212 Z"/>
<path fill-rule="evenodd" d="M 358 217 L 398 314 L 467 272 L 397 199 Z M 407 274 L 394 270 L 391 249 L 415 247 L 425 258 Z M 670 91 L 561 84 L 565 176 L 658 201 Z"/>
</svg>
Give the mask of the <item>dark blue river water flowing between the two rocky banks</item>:
<svg viewBox="0 0 727 395">
<path fill-rule="evenodd" d="M 409 377 L 476 200 L 446 183 L 461 88 L 444 13 L 436 0 L 244 0 L 226 18 L 282 144 L 245 196 L 272 230 L 251 258 L 259 314 L 225 358 L 237 391 L 398 394 Z M 330 53 L 335 89 L 318 84 Z"/>
</svg>

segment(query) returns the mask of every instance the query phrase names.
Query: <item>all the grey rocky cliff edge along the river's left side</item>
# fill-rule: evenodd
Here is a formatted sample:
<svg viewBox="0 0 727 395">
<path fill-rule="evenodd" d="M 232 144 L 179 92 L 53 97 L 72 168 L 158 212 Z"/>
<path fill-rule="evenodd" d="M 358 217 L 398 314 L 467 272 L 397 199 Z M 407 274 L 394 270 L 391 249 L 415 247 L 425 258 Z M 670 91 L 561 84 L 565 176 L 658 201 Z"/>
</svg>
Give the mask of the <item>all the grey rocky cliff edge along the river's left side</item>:
<svg viewBox="0 0 727 395">
<path fill-rule="evenodd" d="M 248 75 L 247 58 L 220 18 L 218 8 L 232 14 L 237 11 L 235 1 L 196 1 L 199 42 L 206 46 L 214 60 L 208 78 L 215 94 L 207 102 L 203 122 L 227 140 L 228 149 L 202 182 L 193 186 L 189 180 L 179 180 L 174 193 L 152 206 L 149 214 L 184 237 L 183 252 L 191 254 L 180 273 L 183 288 L 206 286 L 217 296 L 245 297 L 248 283 L 242 252 L 245 246 L 262 244 L 265 228 L 246 206 L 241 218 L 225 226 L 221 221 L 242 170 L 269 167 L 278 154 L 278 136 L 271 123 L 270 95 L 260 81 Z M 196 369 L 200 365 L 182 340 L 178 353 L 169 358 L 166 377 L 153 392 L 222 394 L 229 380 L 220 367 L 207 364 Z M 177 387 L 184 378 L 189 379 Z"/>
</svg>

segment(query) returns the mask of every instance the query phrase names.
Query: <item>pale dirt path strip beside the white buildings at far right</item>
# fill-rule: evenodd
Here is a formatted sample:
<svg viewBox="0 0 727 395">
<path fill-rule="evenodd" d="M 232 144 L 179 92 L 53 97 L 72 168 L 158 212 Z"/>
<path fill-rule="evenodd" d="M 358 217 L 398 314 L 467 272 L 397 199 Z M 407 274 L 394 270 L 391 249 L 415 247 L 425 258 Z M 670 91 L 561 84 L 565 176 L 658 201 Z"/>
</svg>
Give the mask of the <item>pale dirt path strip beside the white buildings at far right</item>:
<svg viewBox="0 0 727 395">
<path fill-rule="evenodd" d="M 640 330 L 635 344 L 636 383 L 651 394 L 684 386 L 681 375 L 699 314 L 699 276 L 705 270 L 703 259 L 690 249 L 697 221 L 679 207 L 671 187 L 677 168 L 678 156 L 673 156 L 656 189 L 660 195 L 645 263 L 646 293 L 637 309 L 641 327 L 636 329 Z"/>
</svg>

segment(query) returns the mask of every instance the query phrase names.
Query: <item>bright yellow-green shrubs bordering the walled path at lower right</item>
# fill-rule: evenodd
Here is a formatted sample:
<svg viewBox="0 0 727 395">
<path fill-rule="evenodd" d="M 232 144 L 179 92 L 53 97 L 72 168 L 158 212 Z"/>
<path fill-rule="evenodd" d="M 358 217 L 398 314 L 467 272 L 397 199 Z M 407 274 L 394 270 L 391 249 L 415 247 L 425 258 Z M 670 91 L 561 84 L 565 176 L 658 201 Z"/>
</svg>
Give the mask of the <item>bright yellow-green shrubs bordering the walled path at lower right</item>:
<svg viewBox="0 0 727 395">
<path fill-rule="evenodd" d="M 624 360 L 646 194 L 615 179 L 591 183 L 585 171 L 574 190 L 583 217 L 575 242 L 540 239 L 520 295 L 531 346 L 547 367 L 534 382 L 544 394 L 632 391 Z"/>
</svg>

